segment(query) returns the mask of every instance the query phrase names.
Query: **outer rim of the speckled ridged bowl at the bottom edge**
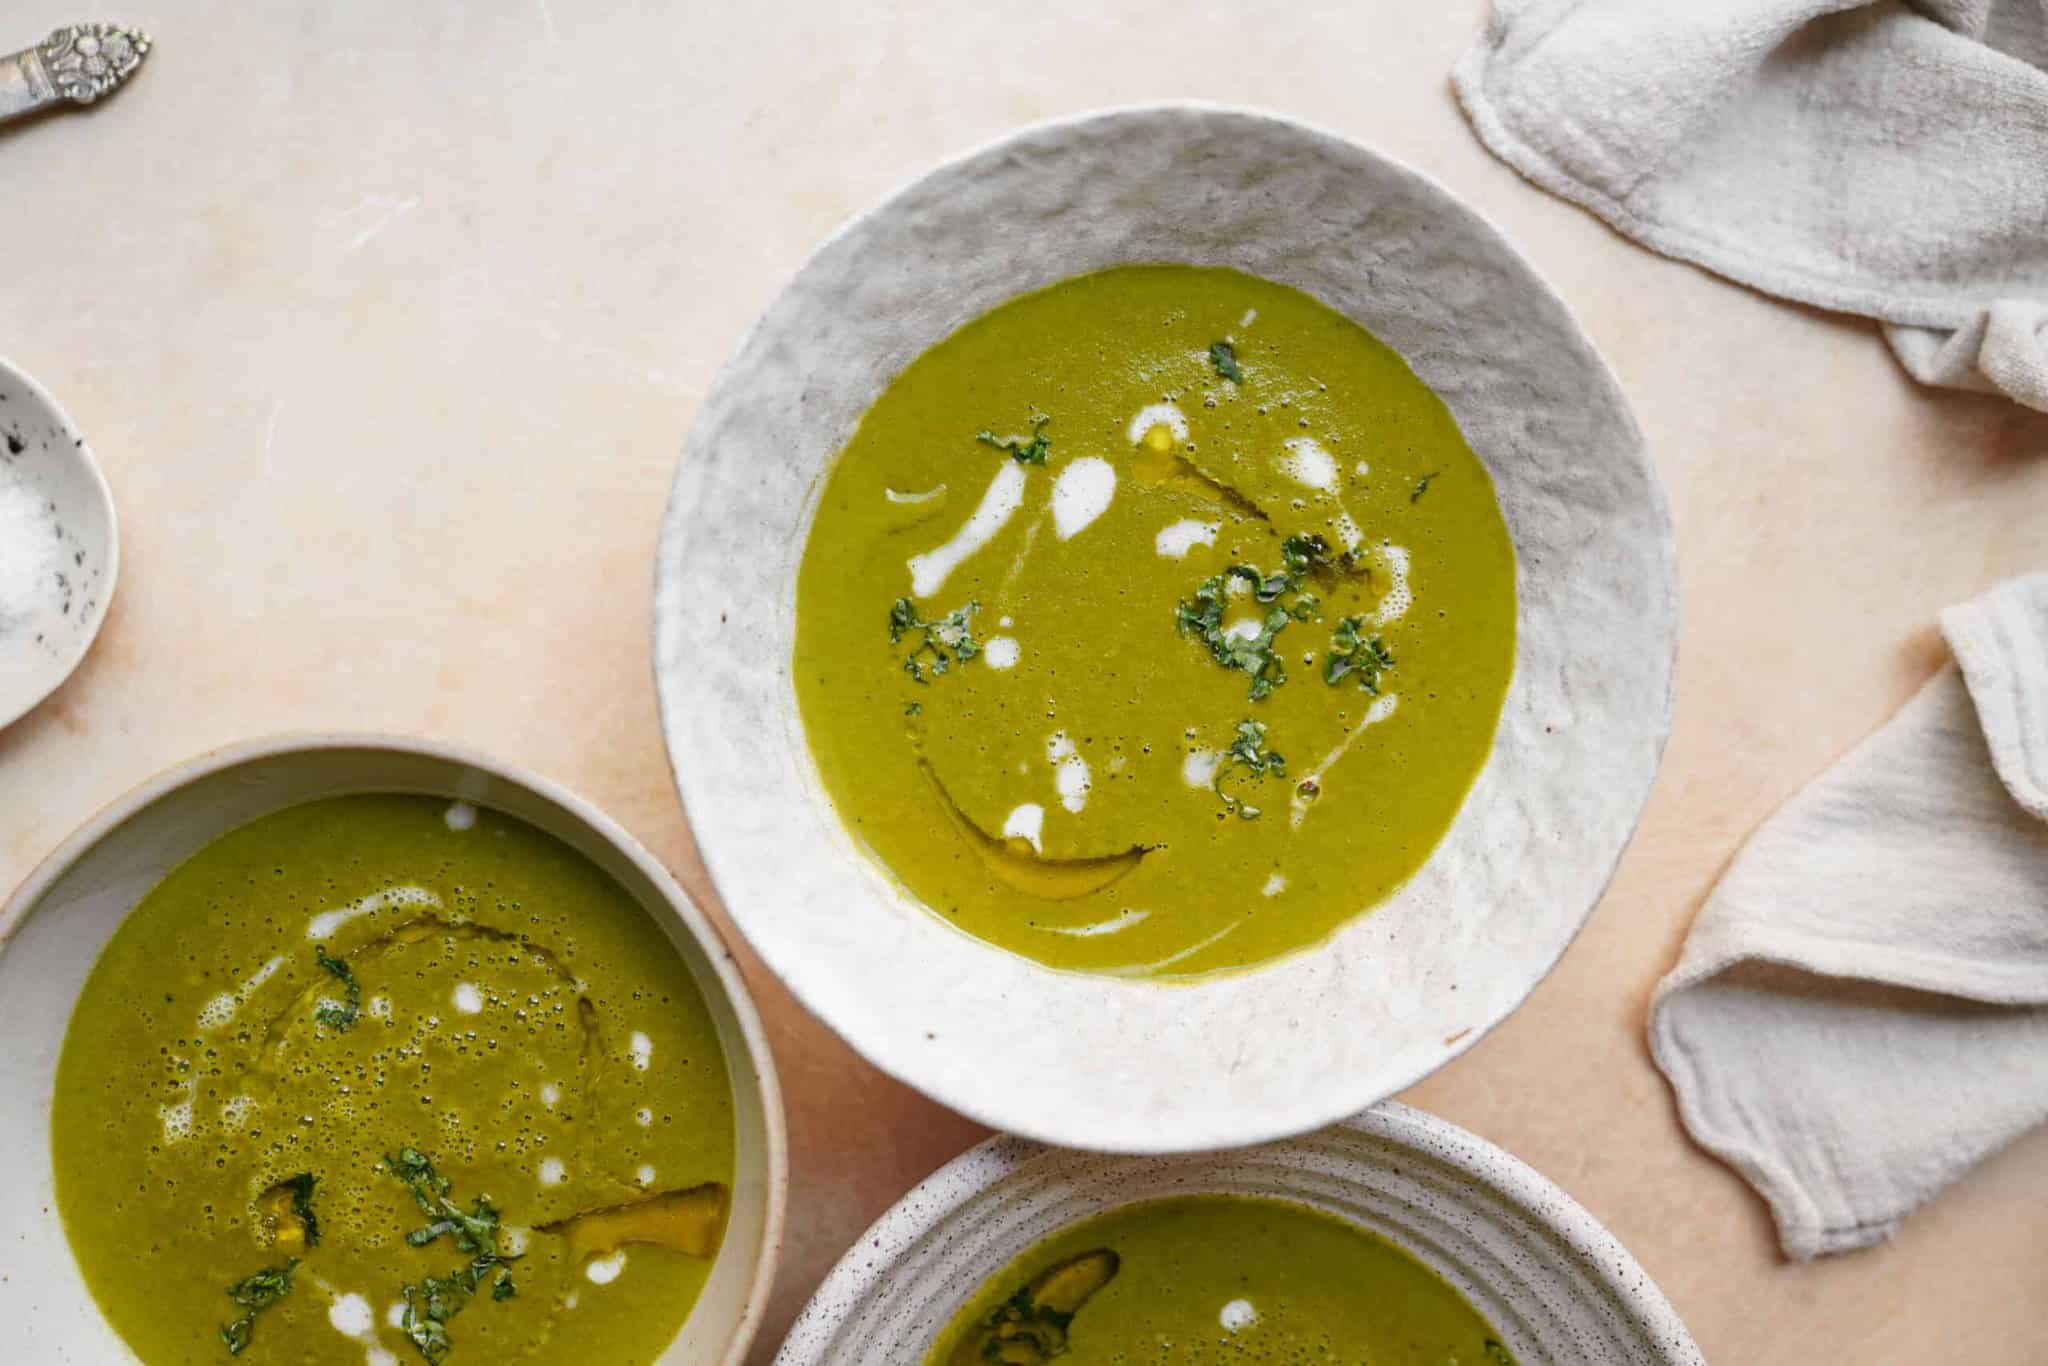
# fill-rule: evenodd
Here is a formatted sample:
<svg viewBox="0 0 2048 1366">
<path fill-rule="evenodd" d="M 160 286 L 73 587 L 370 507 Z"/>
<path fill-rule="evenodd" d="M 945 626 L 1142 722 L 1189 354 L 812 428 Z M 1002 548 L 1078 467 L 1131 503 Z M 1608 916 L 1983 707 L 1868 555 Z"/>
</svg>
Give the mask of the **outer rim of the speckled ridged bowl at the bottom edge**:
<svg viewBox="0 0 2048 1366">
<path fill-rule="evenodd" d="M 1556 1182 L 1507 1149 L 1430 1110 L 1419 1110 L 1397 1100 L 1382 1100 L 1368 1110 L 1337 1120 L 1331 1128 L 1352 1128 L 1399 1145 L 1419 1157 L 1456 1169 L 1475 1186 L 1503 1196 L 1528 1219 L 1563 1237 L 1579 1253 L 1587 1274 L 1614 1294 L 1616 1303 L 1636 1323 L 1642 1323 L 1659 1341 L 1673 1343 L 1673 1362 L 1706 1366 L 1706 1358 L 1686 1329 L 1686 1321 L 1679 1319 L 1671 1300 L 1657 1288 L 1657 1282 L 1651 1280 L 1651 1274 L 1636 1262 L 1634 1253 Z M 1309 1135 L 1276 1139 L 1272 1145 L 1260 1147 L 1286 1147 L 1305 1137 Z M 776 1350 L 774 1366 L 811 1366 L 819 1360 L 817 1343 L 829 1341 L 840 1333 L 854 1311 L 872 1294 L 877 1282 L 920 1239 L 952 1216 L 963 1204 L 1008 1182 L 1030 1163 L 1061 1155 L 1077 1155 L 1077 1151 L 1014 1135 L 993 1135 L 918 1182 L 881 1219 L 868 1225 L 846 1247 L 840 1260 L 834 1262 L 825 1278 L 817 1282 L 817 1290 L 805 1303 L 795 1323 L 791 1323 L 782 1348 Z M 1110 1155 L 1110 1159 L 1128 1163 L 1182 1161 L 1192 1165 L 1217 1155 L 1223 1153 Z M 1098 1212 L 1110 1208 L 1122 1206 L 1110 1204 Z"/>
</svg>

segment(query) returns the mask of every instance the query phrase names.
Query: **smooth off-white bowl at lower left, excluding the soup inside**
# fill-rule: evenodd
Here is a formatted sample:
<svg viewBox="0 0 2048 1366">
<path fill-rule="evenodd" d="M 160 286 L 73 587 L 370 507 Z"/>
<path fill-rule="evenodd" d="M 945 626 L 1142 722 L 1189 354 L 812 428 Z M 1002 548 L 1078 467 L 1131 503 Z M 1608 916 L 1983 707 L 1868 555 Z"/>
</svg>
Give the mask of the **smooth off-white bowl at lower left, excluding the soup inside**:
<svg viewBox="0 0 2048 1366">
<path fill-rule="evenodd" d="M 238 825 L 319 797 L 426 793 L 492 807 L 592 860 L 659 924 L 696 979 L 733 1079 L 733 1212 L 711 1280 L 662 1366 L 735 1366 L 782 1239 L 782 1096 L 754 1001 L 702 911 L 633 836 L 553 782 L 446 745 L 299 735 L 174 768 L 94 817 L 0 907 L 0 1362 L 133 1362 L 72 1260 L 51 1184 L 49 1110 L 72 1004 L 143 893 Z"/>
</svg>

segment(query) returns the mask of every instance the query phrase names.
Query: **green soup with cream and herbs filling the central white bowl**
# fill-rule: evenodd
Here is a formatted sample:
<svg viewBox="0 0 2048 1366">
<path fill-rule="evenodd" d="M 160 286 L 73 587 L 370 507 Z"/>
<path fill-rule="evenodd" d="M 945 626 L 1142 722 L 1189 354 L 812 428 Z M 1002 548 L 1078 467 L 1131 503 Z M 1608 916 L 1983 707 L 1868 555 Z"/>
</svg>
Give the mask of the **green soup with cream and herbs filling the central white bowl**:
<svg viewBox="0 0 2048 1366">
<path fill-rule="evenodd" d="M 1430 856 L 1513 668 L 1493 483 L 1393 350 L 1233 270 L 1006 303 L 825 477 L 795 686 L 854 836 L 961 930 L 1194 975 Z"/>
</svg>

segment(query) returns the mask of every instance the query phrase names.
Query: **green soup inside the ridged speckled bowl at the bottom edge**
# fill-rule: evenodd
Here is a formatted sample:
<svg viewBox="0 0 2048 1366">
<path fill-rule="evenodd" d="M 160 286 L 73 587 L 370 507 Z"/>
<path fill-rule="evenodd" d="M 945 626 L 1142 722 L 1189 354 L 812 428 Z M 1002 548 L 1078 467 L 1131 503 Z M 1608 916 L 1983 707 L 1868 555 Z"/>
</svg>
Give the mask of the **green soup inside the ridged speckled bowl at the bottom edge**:
<svg viewBox="0 0 2048 1366">
<path fill-rule="evenodd" d="M 954 1313 L 926 1366 L 1507 1366 L 1450 1284 L 1305 1204 L 1176 1196 L 1065 1229 Z"/>
</svg>

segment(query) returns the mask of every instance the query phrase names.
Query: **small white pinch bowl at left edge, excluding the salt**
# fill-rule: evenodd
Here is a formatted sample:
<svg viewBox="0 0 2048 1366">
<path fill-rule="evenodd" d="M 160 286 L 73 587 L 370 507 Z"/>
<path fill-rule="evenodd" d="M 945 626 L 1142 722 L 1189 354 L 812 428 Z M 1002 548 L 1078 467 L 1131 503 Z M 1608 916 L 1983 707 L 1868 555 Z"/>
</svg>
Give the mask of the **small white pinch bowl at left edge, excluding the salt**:
<svg viewBox="0 0 2048 1366">
<path fill-rule="evenodd" d="M 18 479 L 47 514 L 53 565 L 23 621 L 0 598 L 0 729 L 72 676 L 106 621 L 121 571 L 115 496 L 92 449 L 41 385 L 0 358 L 0 477 Z M 4 551 L 0 551 L 4 553 Z"/>
</svg>

